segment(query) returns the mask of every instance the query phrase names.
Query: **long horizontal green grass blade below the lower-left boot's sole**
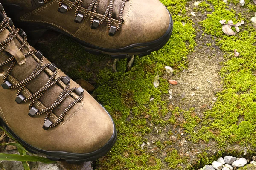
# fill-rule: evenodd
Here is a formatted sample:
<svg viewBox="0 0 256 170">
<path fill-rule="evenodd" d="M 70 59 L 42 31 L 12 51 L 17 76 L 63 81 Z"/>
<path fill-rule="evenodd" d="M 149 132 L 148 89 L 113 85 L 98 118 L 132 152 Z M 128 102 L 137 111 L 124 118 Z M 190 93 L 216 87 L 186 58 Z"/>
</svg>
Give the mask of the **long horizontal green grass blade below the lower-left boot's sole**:
<svg viewBox="0 0 256 170">
<path fill-rule="evenodd" d="M 29 155 L 17 155 L 17 154 L 5 154 L 0 153 L 0 160 L 6 161 L 22 161 L 22 162 L 43 162 L 46 164 L 55 163 L 56 161 L 51 161 L 47 158 L 39 157 L 39 156 L 29 156 Z"/>
</svg>

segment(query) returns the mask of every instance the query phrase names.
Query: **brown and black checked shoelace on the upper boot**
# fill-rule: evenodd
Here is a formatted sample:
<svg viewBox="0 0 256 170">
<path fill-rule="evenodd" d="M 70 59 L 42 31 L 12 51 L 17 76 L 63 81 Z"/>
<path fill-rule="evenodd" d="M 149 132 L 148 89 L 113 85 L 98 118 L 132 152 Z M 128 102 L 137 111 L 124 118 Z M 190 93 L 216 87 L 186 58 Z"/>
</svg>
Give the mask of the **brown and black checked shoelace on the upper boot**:
<svg viewBox="0 0 256 170">
<path fill-rule="evenodd" d="M 49 3 L 51 1 L 52 0 L 44 0 L 44 3 Z M 98 4 L 99 4 L 99 0 L 92 0 L 89 7 L 87 8 L 85 14 L 80 13 L 80 9 L 81 9 L 81 6 L 83 4 L 83 0 L 75 0 L 70 6 L 67 6 L 66 4 L 64 4 L 63 0 L 58 0 L 58 5 L 59 5 L 59 10 L 58 11 L 64 13 L 64 12 L 70 11 L 73 8 L 76 8 L 76 11 L 75 11 L 76 19 L 75 19 L 75 21 L 78 22 L 78 23 L 81 22 L 82 20 L 84 20 L 89 15 L 91 15 L 90 21 L 92 23 L 91 28 L 93 28 L 93 29 L 96 29 L 105 20 L 107 20 L 108 29 L 110 30 L 109 35 L 113 36 L 115 34 L 115 32 L 118 31 L 122 26 L 125 4 L 129 0 L 122 0 L 123 2 L 122 2 L 122 6 L 120 8 L 117 26 L 111 26 L 114 0 L 109 0 L 109 1 L 110 2 L 108 3 L 108 7 L 105 11 L 105 14 L 99 20 L 97 20 L 95 18 L 95 14 L 96 14 L 96 10 L 97 10 Z"/>
</svg>

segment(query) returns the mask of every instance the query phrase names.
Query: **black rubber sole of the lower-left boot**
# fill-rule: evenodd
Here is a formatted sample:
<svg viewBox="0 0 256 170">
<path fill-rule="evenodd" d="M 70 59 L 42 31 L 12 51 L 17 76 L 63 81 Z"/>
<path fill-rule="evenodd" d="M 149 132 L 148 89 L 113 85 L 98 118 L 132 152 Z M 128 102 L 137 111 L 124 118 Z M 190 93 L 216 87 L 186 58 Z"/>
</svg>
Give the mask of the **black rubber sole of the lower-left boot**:
<svg viewBox="0 0 256 170">
<path fill-rule="evenodd" d="M 103 107 L 103 106 L 102 106 Z M 103 107 L 104 108 L 104 107 Z M 105 109 L 105 108 L 104 108 Z M 106 110 L 106 109 L 105 109 Z M 107 110 L 106 110 L 107 112 Z M 108 115 L 111 118 L 111 115 L 108 113 Z M 111 118 L 112 119 L 112 118 Z M 112 119 L 113 121 L 113 119 Z M 19 138 L 18 135 L 16 135 L 3 121 L 2 118 L 0 118 L 1 124 L 3 124 L 6 127 L 6 130 L 19 141 L 23 146 L 31 153 L 42 153 L 44 154 L 47 158 L 53 161 L 66 161 L 68 163 L 79 163 L 79 162 L 88 162 L 88 161 L 95 161 L 98 158 L 101 158 L 104 156 L 106 153 L 108 153 L 111 148 L 114 146 L 116 143 L 117 139 L 117 133 L 116 133 L 116 127 L 115 124 L 113 123 L 113 135 L 111 136 L 110 140 L 99 150 L 96 150 L 91 153 L 69 153 L 69 152 L 62 152 L 62 151 L 47 151 L 47 150 L 41 150 L 39 148 L 33 147 L 30 144 L 26 143 L 23 141 L 21 138 Z"/>
</svg>

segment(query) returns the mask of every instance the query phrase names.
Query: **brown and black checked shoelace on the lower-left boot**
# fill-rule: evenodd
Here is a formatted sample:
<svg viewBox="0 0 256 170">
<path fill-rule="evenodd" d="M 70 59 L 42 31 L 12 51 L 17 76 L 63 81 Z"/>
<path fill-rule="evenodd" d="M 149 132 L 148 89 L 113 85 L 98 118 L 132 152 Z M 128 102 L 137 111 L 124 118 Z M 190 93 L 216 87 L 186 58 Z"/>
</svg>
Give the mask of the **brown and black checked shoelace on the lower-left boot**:
<svg viewBox="0 0 256 170">
<path fill-rule="evenodd" d="M 0 4 L 0 6 L 2 6 L 2 5 Z M 0 42 L 0 52 L 3 52 L 6 49 L 6 47 L 8 46 L 8 44 L 12 40 L 14 40 L 18 34 L 20 34 L 23 37 L 23 42 L 20 42 L 21 45 L 19 47 L 19 49 L 22 50 L 27 43 L 27 37 L 26 37 L 25 32 L 23 32 L 22 29 L 15 28 L 12 21 L 9 19 L 9 17 L 7 17 L 4 9 L 1 12 L 3 14 L 3 20 L 0 23 L 0 33 L 3 32 L 5 29 L 8 29 L 10 31 L 10 33 L 6 40 Z M 40 51 L 32 50 L 32 51 L 25 53 L 24 56 L 26 58 L 27 56 L 32 55 L 32 54 L 35 54 L 35 56 L 40 59 L 40 62 L 38 63 L 35 70 L 31 73 L 31 75 L 29 75 L 28 78 L 26 78 L 23 81 L 20 81 L 17 84 L 14 84 L 14 85 L 12 85 L 8 81 L 8 77 L 9 77 L 12 69 L 16 65 L 17 61 L 15 60 L 14 57 L 10 57 L 6 61 L 3 61 L 2 63 L 0 63 L 0 67 L 1 67 L 1 66 L 6 65 L 7 63 L 12 62 L 11 65 L 9 66 L 9 68 L 7 69 L 7 71 L 5 72 L 5 75 L 3 76 L 3 84 L 1 86 L 4 89 L 17 89 L 18 88 L 18 91 L 16 93 L 16 97 L 17 97 L 16 102 L 17 103 L 31 101 L 29 104 L 29 115 L 30 116 L 33 117 L 34 115 L 46 114 L 45 118 L 44 118 L 43 128 L 45 130 L 47 130 L 50 127 L 51 128 L 56 127 L 58 124 L 60 124 L 61 121 L 63 120 L 64 116 L 67 114 L 67 112 L 75 104 L 77 104 L 84 98 L 84 89 L 82 89 L 81 87 L 69 89 L 70 88 L 70 78 L 68 76 L 65 76 L 65 77 L 61 76 L 61 77 L 55 78 L 57 75 L 57 72 L 58 72 L 55 65 L 54 64 L 45 64 L 44 66 L 42 66 L 44 57 Z M 27 84 L 29 84 L 30 81 L 35 79 L 38 75 L 40 75 L 41 72 L 43 72 L 47 68 L 49 68 L 53 72 L 52 76 L 49 78 L 47 83 L 40 90 L 38 90 L 38 92 L 35 92 L 35 94 L 29 96 L 28 98 L 25 98 L 21 94 L 23 89 L 27 86 Z M 58 96 L 58 98 L 55 100 L 55 102 L 50 107 L 47 107 L 46 109 L 43 109 L 41 111 L 39 111 L 36 107 L 34 107 L 34 104 L 39 100 L 39 98 L 41 98 L 41 96 L 44 94 L 44 92 L 47 91 L 47 89 L 49 89 L 53 85 L 57 84 L 59 81 L 63 81 L 64 84 L 66 84 L 67 86 L 65 87 L 63 92 L 61 92 L 61 94 Z M 53 111 L 53 109 L 58 107 L 72 92 L 75 92 L 77 95 L 79 95 L 79 97 L 76 98 L 70 105 L 67 106 L 67 108 L 64 110 L 64 112 L 61 113 L 61 115 L 58 117 L 58 119 L 55 121 L 55 123 L 52 123 L 49 120 L 49 116 L 50 116 L 51 112 Z"/>
</svg>

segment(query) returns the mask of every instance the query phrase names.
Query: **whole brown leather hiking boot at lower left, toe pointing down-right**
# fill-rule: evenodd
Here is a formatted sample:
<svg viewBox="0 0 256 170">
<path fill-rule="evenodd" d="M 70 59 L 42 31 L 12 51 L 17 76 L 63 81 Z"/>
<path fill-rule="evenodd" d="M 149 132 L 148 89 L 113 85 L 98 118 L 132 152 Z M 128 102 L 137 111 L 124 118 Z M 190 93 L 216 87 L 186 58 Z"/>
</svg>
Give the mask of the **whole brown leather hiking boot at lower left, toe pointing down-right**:
<svg viewBox="0 0 256 170">
<path fill-rule="evenodd" d="M 26 42 L 0 3 L 0 121 L 32 153 L 91 161 L 116 141 L 105 108 Z"/>
</svg>

